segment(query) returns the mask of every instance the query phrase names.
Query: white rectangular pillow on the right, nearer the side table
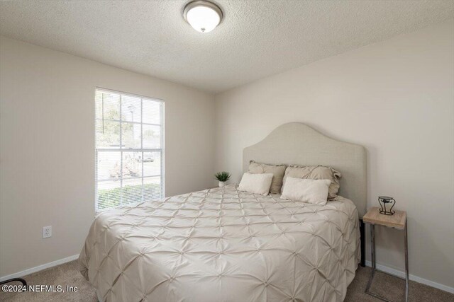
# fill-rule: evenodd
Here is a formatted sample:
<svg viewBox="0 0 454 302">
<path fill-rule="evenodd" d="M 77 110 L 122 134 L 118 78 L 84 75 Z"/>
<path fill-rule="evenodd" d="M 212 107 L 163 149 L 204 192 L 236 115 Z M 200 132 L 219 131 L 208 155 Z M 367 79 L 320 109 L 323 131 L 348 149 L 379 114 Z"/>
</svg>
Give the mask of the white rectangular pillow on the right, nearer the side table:
<svg viewBox="0 0 454 302">
<path fill-rule="evenodd" d="M 288 177 L 282 190 L 282 199 L 294 202 L 325 205 L 331 180 L 310 180 Z"/>
</svg>

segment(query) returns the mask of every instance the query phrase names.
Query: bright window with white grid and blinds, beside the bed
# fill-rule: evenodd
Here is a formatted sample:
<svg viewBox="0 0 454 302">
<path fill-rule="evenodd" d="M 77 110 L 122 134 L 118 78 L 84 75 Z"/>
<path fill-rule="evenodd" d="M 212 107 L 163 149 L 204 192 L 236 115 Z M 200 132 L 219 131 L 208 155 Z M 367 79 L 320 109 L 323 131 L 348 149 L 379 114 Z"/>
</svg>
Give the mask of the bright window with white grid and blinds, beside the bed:
<svg viewBox="0 0 454 302">
<path fill-rule="evenodd" d="M 96 211 L 164 197 L 164 103 L 96 89 Z"/>
</svg>

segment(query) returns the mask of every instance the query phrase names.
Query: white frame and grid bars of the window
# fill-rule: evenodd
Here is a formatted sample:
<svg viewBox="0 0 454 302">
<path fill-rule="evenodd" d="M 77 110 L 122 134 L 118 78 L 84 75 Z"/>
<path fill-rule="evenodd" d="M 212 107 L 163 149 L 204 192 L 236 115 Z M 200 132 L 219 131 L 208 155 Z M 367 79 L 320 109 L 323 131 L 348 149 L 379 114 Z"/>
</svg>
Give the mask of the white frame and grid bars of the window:
<svg viewBox="0 0 454 302">
<path fill-rule="evenodd" d="M 108 88 L 96 87 L 94 89 L 94 180 L 95 180 L 94 181 L 94 209 L 95 209 L 95 212 L 100 213 L 101 211 L 106 211 L 108 209 L 114 209 L 116 207 L 121 207 L 123 205 L 123 204 L 119 204 L 116 207 L 98 209 L 98 169 L 96 167 L 97 161 L 98 161 L 98 151 L 117 151 L 118 152 L 118 151 L 122 151 L 123 149 L 121 149 L 121 147 L 120 147 L 120 149 L 106 149 L 106 148 L 98 149 L 96 147 L 96 122 L 98 120 L 96 117 L 96 92 L 97 91 L 101 91 L 101 92 L 104 91 L 106 93 L 116 93 L 116 94 L 120 95 L 120 120 L 105 119 L 107 121 L 119 122 L 120 129 L 121 129 L 121 124 L 122 124 L 122 120 L 121 120 L 121 97 L 122 97 L 122 95 L 131 96 L 134 98 L 140 98 L 140 122 L 128 121 L 129 124 L 140 124 L 141 129 L 143 128 L 143 124 L 147 124 L 147 125 L 151 125 L 151 126 L 160 126 L 160 149 L 144 149 L 143 146 L 140 146 L 141 147 L 140 149 L 133 149 L 133 150 L 138 151 L 138 152 L 160 151 L 160 153 L 161 153 L 161 174 L 160 174 L 161 196 L 160 196 L 160 198 L 161 199 L 165 198 L 165 144 L 164 144 L 164 142 L 165 142 L 165 139 L 164 139 L 165 138 L 165 101 L 161 100 L 159 98 L 150 98 L 145 95 L 138 95 L 135 93 L 127 93 L 127 92 L 123 92 L 123 91 L 115 91 L 115 90 L 108 89 Z M 143 123 L 143 99 L 144 98 L 160 103 L 160 124 Z M 121 131 L 120 131 L 119 135 L 120 135 L 119 144 L 121 146 L 121 142 L 122 142 L 121 141 Z M 142 141 L 142 145 L 143 145 L 143 141 Z M 131 151 L 131 149 L 125 149 L 125 150 Z M 123 161 L 123 155 L 121 155 L 121 161 Z M 122 170 L 123 169 L 122 163 L 120 164 L 120 167 Z M 143 161 L 142 161 L 142 171 L 143 171 Z M 157 175 L 145 176 L 145 178 L 152 178 L 152 177 L 156 177 L 156 176 Z M 144 178 L 143 175 L 138 176 L 136 178 L 142 178 L 142 187 L 143 187 L 143 178 Z M 133 178 L 128 178 L 128 179 L 133 179 Z M 120 181 L 121 181 L 121 184 L 123 185 L 123 173 L 121 173 Z M 145 202 L 145 200 L 143 200 L 143 191 L 142 191 L 142 201 L 141 202 Z M 140 202 L 137 202 L 137 203 L 140 203 Z M 126 204 L 124 204 L 124 205 L 126 205 Z"/>
</svg>

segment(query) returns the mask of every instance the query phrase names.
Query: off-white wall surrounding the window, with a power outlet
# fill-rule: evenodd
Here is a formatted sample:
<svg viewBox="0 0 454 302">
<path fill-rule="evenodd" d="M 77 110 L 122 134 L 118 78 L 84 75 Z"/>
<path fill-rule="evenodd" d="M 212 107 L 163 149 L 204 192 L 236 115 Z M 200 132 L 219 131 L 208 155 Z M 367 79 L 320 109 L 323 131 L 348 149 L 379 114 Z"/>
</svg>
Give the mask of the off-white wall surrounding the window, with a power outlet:
<svg viewBox="0 0 454 302">
<path fill-rule="evenodd" d="M 82 249 L 96 86 L 165 100 L 167 196 L 214 184 L 213 95 L 5 37 L 0 66 L 0 276 Z"/>
</svg>

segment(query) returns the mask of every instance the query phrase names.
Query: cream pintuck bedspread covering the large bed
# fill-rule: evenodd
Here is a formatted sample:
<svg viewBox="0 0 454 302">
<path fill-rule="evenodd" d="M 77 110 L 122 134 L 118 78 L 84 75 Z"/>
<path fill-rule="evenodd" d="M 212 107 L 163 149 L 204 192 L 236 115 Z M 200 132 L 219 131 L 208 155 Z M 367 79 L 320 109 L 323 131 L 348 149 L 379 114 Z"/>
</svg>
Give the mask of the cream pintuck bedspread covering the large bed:
<svg viewBox="0 0 454 302">
<path fill-rule="evenodd" d="M 343 301 L 358 211 L 210 189 L 104 211 L 79 256 L 99 301 Z"/>
</svg>

